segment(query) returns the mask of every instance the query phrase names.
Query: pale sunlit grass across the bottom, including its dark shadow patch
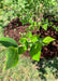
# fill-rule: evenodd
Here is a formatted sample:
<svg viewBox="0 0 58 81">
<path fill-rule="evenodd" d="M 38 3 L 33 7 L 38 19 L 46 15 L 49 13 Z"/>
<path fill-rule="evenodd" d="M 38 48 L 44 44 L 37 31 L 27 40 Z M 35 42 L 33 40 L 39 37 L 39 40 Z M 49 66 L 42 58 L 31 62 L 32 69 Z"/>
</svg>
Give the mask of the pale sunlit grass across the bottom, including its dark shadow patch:
<svg viewBox="0 0 58 81">
<path fill-rule="evenodd" d="M 3 37 L 2 31 L 3 29 L 0 28 L 0 38 Z M 20 81 L 27 81 L 27 80 L 39 81 L 40 78 L 41 78 L 41 81 L 43 81 L 43 78 L 44 78 L 44 81 L 48 79 L 50 79 L 50 81 L 54 81 L 54 79 L 58 78 L 57 77 L 58 76 L 58 72 L 57 72 L 58 57 L 54 57 L 48 60 L 42 59 L 40 62 L 35 62 L 35 64 L 32 64 L 33 63 L 32 59 L 30 59 L 29 57 L 27 58 L 24 55 L 20 55 L 17 66 L 4 71 L 3 67 L 4 67 L 5 54 L 8 53 L 8 50 L 1 50 L 1 49 L 0 49 L 0 81 L 2 80 L 8 81 L 11 79 L 12 81 L 14 80 L 15 81 L 19 81 L 19 80 Z M 37 67 L 37 65 L 39 67 Z M 44 70 L 46 72 L 44 72 Z"/>
</svg>

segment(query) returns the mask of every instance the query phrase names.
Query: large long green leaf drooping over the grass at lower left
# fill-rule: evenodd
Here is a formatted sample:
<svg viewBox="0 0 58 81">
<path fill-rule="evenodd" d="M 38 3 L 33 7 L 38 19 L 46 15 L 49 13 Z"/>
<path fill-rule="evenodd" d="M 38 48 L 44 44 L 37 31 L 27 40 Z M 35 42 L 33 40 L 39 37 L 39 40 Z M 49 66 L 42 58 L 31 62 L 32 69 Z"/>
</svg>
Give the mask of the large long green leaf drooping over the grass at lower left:
<svg viewBox="0 0 58 81">
<path fill-rule="evenodd" d="M 10 46 L 6 54 L 5 70 L 16 66 L 18 63 L 18 53 L 17 49 Z"/>
</svg>

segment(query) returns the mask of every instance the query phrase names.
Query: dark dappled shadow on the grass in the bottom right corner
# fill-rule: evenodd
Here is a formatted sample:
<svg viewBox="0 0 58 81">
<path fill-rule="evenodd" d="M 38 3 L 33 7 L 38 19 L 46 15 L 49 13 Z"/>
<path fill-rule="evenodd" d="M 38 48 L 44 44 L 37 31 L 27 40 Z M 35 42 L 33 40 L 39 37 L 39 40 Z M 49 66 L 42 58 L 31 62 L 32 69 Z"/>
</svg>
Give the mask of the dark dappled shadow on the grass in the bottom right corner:
<svg viewBox="0 0 58 81">
<path fill-rule="evenodd" d="M 39 77 L 46 81 L 47 75 L 58 79 L 58 57 L 52 59 L 41 59 L 40 62 L 32 62 L 35 64 L 37 69 L 39 70 Z M 48 78 L 49 79 L 49 78 Z"/>
</svg>

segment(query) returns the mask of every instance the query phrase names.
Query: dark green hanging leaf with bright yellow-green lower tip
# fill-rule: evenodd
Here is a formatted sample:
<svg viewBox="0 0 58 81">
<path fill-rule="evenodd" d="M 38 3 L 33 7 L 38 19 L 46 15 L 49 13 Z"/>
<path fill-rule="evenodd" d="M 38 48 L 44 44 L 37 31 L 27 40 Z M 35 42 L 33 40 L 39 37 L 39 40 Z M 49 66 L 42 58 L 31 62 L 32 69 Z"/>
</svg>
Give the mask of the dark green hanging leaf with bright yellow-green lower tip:
<svg viewBox="0 0 58 81">
<path fill-rule="evenodd" d="M 40 42 L 38 42 L 37 44 L 33 44 L 31 46 L 29 53 L 30 53 L 30 56 L 32 57 L 32 59 L 40 60 L 41 49 L 42 49 L 42 44 Z"/>
</svg>

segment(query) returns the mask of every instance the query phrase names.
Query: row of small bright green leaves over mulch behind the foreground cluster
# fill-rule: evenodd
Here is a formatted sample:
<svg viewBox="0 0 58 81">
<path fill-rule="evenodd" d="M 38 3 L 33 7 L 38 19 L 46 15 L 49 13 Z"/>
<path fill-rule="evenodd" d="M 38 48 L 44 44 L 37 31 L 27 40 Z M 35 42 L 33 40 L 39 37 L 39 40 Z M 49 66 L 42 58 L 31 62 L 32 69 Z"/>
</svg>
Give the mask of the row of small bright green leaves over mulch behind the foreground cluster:
<svg viewBox="0 0 58 81">
<path fill-rule="evenodd" d="M 41 27 L 44 30 L 47 30 L 47 27 L 49 25 L 48 19 L 44 21 L 44 18 L 42 19 L 42 22 L 32 22 L 32 19 L 29 19 L 30 26 L 29 29 L 30 30 L 34 30 L 35 28 L 39 30 Z M 28 30 L 28 29 L 27 29 Z"/>
</svg>

